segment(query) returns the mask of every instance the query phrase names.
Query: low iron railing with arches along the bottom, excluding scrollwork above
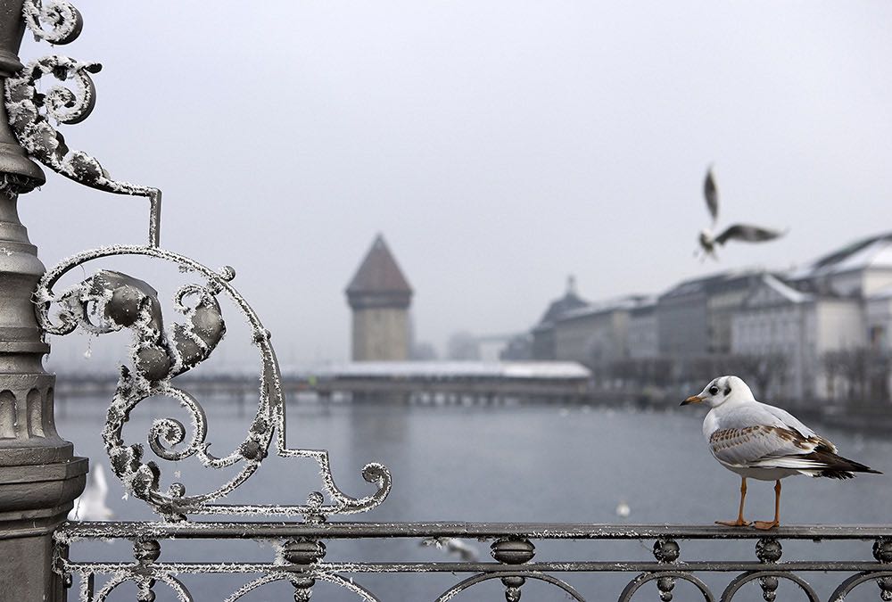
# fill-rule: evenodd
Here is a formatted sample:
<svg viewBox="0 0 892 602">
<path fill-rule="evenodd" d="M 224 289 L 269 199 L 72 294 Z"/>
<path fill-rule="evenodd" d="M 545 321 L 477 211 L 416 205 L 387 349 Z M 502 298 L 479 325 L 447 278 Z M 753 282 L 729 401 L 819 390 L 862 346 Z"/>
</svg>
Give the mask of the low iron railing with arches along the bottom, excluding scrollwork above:
<svg viewBox="0 0 892 602">
<path fill-rule="evenodd" d="M 132 562 L 70 561 L 67 552 L 74 542 L 87 539 L 108 540 L 122 538 L 133 541 Z M 257 540 L 275 542 L 275 553 L 266 563 L 237 562 L 219 557 L 207 562 L 161 561 L 162 542 L 165 540 L 221 540 L 219 549 L 227 547 L 225 540 Z M 341 560 L 326 562 L 326 545 L 336 546 L 338 540 L 392 540 L 395 538 L 419 541 L 450 542 L 462 540 L 491 540 L 491 556 L 495 562 L 463 560 L 461 562 L 366 562 Z M 535 559 L 536 543 L 548 540 L 647 540 L 652 541 L 653 560 L 591 561 L 555 558 Z M 741 560 L 682 560 L 680 541 L 684 540 L 755 540 L 755 558 Z M 783 540 L 859 540 L 865 551 L 872 551 L 873 561 L 782 561 Z M 288 581 L 294 588 L 295 600 L 308 600 L 316 581 L 335 584 L 367 601 L 379 598 L 362 585 L 369 573 L 450 573 L 466 574 L 448 590 L 435 594 L 435 602 L 453 598 L 474 597 L 473 588 L 485 581 L 498 580 L 505 598 L 521 598 L 524 583 L 529 580 L 548 583 L 560 595 L 574 600 L 593 600 L 582 589 L 571 585 L 574 573 L 633 573 L 619 593 L 618 600 L 627 602 L 651 581 L 654 593 L 664 602 L 673 599 L 677 581 L 688 581 L 707 602 L 731 600 L 751 581 L 758 583 L 765 600 L 771 602 L 781 581 L 789 581 L 803 592 L 809 602 L 822 598 L 799 573 L 829 572 L 840 574 L 838 584 L 829 598 L 838 602 L 867 581 L 880 586 L 880 598 L 892 599 L 892 527 L 890 526 L 814 526 L 781 527 L 766 534 L 755 530 L 735 530 L 714 526 L 670 525 L 607 525 L 607 524 L 475 524 L 475 523 L 80 523 L 67 524 L 56 533 L 58 570 L 81 577 L 82 600 L 104 600 L 120 584 L 133 581 L 144 598 L 153 599 L 148 592 L 156 582 L 163 583 L 179 599 L 192 600 L 184 575 L 239 573 L 260 575 L 226 598 L 234 602 L 274 581 Z M 872 542 L 872 544 L 871 544 Z M 601 548 L 604 548 L 602 546 Z M 609 548 L 607 548 L 609 549 Z M 607 552 L 609 553 L 609 552 Z M 714 591 L 702 579 L 704 573 L 737 573 L 726 581 L 723 590 Z M 95 576 L 106 581 L 96 584 Z M 460 596 L 468 592 L 471 598 Z M 606 596 L 599 592 L 597 599 Z M 561 599 L 559 597 L 549 599 Z"/>
</svg>

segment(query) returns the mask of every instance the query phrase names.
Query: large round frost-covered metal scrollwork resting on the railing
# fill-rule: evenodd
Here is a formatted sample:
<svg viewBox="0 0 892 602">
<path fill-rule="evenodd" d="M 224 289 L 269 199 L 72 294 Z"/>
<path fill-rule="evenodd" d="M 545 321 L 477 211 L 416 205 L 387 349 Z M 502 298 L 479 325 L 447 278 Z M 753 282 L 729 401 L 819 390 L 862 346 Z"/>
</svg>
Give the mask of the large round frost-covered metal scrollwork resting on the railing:
<svg viewBox="0 0 892 602">
<path fill-rule="evenodd" d="M 161 303 L 152 286 L 133 276 L 100 270 L 78 285 L 61 293 L 53 288 L 71 269 L 89 261 L 117 255 L 140 255 L 170 261 L 183 271 L 202 277 L 202 284 L 181 287 L 174 296 L 174 306 L 186 317 L 185 323 L 165 327 Z M 120 367 L 120 379 L 111 400 L 103 429 L 105 446 L 115 474 L 128 491 L 144 499 L 159 514 L 170 520 L 190 514 L 303 515 L 307 520 L 324 520 L 326 515 L 361 512 L 376 507 L 387 496 L 391 477 L 376 463 L 366 465 L 363 478 L 377 486 L 365 498 L 352 498 L 335 484 L 325 449 L 289 449 L 285 442 L 285 400 L 280 385 L 279 368 L 268 331 L 247 301 L 235 291 L 231 281 L 235 270 L 219 271 L 154 247 L 117 246 L 83 252 L 50 269 L 36 293 L 37 318 L 50 334 L 69 334 L 78 327 L 92 334 L 128 329 L 133 334 L 129 348 L 131 367 Z M 244 440 L 227 455 L 211 455 L 208 420 L 202 404 L 171 379 L 207 359 L 217 346 L 226 326 L 220 311 L 219 295 L 226 295 L 241 310 L 252 330 L 253 342 L 260 351 L 260 390 L 257 413 Z M 55 308 L 55 309 L 54 309 Z M 189 415 L 186 427 L 173 417 L 153 421 L 147 434 L 149 448 L 162 461 L 197 458 L 207 468 L 232 467 L 237 474 L 214 491 L 187 494 L 186 483 L 173 482 L 161 488 L 161 466 L 144 458 L 145 448 L 123 439 L 124 425 L 130 413 L 144 400 L 166 397 L 177 400 Z M 276 453 L 285 458 L 311 458 L 319 467 L 322 491 L 310 492 L 305 504 L 295 505 L 222 505 L 214 502 L 227 496 L 245 482 L 259 467 L 273 438 Z M 326 503 L 326 495 L 328 501 Z"/>
</svg>

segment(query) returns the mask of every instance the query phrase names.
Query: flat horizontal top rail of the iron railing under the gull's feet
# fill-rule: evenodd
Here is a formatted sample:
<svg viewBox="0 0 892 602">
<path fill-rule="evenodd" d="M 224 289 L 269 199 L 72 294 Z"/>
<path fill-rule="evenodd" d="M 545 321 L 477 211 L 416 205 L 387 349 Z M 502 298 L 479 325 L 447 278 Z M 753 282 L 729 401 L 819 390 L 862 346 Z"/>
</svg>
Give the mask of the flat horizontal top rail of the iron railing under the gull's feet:
<svg viewBox="0 0 892 602">
<path fill-rule="evenodd" d="M 790 525 L 771 531 L 718 525 L 572 524 L 572 523 L 368 523 L 330 522 L 213 522 L 186 523 L 82 522 L 69 523 L 62 540 L 124 539 L 380 539 L 458 537 L 536 540 L 871 540 L 892 538 L 892 524 Z"/>
</svg>

